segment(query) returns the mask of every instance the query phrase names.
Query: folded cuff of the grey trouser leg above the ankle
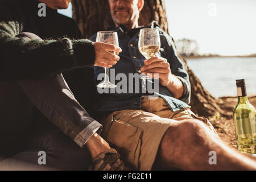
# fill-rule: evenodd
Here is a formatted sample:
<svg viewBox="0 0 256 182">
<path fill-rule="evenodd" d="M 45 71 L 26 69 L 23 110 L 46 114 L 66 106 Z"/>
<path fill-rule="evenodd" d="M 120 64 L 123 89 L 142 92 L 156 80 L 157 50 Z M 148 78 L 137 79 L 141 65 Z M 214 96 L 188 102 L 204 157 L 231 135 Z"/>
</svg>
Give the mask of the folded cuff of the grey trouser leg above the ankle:
<svg viewBox="0 0 256 182">
<path fill-rule="evenodd" d="M 74 141 L 83 148 L 85 143 L 92 137 L 94 133 L 100 134 L 102 131 L 102 125 L 96 120 L 91 122 L 84 130 L 82 130 L 74 139 Z"/>
</svg>

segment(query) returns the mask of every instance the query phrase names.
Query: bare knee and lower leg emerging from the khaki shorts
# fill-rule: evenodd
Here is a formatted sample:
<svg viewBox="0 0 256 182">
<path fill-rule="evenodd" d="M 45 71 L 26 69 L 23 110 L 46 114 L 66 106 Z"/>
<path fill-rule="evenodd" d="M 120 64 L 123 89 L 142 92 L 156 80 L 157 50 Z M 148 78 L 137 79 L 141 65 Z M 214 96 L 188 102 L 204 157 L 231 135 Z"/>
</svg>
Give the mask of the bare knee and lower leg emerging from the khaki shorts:
<svg viewBox="0 0 256 182">
<path fill-rule="evenodd" d="M 210 151 L 216 152 L 217 164 L 209 164 Z M 253 157 L 227 146 L 197 119 L 186 119 L 166 131 L 155 165 L 183 170 L 256 170 Z"/>
</svg>

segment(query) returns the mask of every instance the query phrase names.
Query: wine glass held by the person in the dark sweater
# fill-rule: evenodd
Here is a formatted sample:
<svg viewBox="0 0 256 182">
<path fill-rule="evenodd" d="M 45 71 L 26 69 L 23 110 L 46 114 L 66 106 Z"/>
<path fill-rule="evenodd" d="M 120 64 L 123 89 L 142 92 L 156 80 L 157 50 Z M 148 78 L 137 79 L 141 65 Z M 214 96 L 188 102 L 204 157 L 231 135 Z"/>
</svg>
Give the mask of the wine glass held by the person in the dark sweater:
<svg viewBox="0 0 256 182">
<path fill-rule="evenodd" d="M 103 42 L 103 43 L 108 43 L 108 44 L 113 44 L 115 46 L 119 46 L 117 32 L 111 32 L 111 31 L 97 32 L 96 42 Z M 114 53 L 115 55 L 118 55 L 117 52 L 112 52 L 112 51 L 109 51 L 109 52 Z M 98 88 L 115 88 L 115 87 L 117 87 L 117 85 L 112 84 L 109 81 L 109 68 L 105 68 L 104 81 L 101 82 L 100 84 L 98 84 L 97 87 Z"/>
</svg>

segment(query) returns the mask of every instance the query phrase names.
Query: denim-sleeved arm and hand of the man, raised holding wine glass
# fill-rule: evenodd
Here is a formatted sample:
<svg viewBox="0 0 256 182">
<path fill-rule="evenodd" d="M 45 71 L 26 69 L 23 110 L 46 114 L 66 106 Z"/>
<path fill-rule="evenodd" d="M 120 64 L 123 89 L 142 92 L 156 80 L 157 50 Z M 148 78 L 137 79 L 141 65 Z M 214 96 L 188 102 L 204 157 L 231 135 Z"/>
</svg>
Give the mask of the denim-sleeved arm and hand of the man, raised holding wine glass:
<svg viewBox="0 0 256 182">
<path fill-rule="evenodd" d="M 188 73 L 177 56 L 177 51 L 170 36 L 166 34 L 164 39 L 161 39 L 162 43 L 164 44 L 163 57 L 152 57 L 145 60 L 145 65 L 141 68 L 141 71 L 144 74 L 150 73 L 153 77 L 155 77 L 154 73 L 158 73 L 160 84 L 166 86 L 172 96 L 189 104 L 191 88 Z"/>
</svg>

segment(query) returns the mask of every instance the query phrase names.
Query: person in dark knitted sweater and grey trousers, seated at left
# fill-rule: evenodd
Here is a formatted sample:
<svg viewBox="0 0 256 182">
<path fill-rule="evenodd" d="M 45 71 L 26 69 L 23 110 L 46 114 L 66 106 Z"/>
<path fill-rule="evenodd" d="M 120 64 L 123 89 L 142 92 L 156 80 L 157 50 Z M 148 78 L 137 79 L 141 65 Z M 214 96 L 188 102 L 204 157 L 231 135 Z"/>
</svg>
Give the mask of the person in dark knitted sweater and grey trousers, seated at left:
<svg viewBox="0 0 256 182">
<path fill-rule="evenodd" d="M 87 169 L 93 158 L 93 169 L 125 169 L 90 117 L 92 67 L 111 67 L 119 57 L 108 51 L 121 49 L 82 39 L 76 22 L 57 14 L 70 1 L 40 2 L 0 1 L 0 168 Z M 38 165 L 39 151 L 46 165 Z"/>
</svg>

